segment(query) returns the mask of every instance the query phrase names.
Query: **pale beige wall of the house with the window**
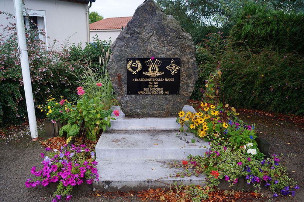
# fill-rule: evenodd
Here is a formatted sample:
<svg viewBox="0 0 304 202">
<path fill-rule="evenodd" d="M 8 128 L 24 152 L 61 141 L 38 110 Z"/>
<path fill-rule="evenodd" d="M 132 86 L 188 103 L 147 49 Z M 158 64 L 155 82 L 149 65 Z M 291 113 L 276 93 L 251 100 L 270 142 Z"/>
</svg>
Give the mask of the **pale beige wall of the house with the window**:
<svg viewBox="0 0 304 202">
<path fill-rule="evenodd" d="M 86 9 L 88 5 L 59 0 L 25 0 L 25 7 L 45 11 L 48 43 L 57 39 L 58 47 L 69 37 L 69 44 L 88 40 Z M 13 0 L 0 0 L 0 11 L 15 15 Z M 0 15 L 0 24 L 8 24 L 5 15 Z M 0 28 L 0 32 L 2 28 Z"/>
</svg>

